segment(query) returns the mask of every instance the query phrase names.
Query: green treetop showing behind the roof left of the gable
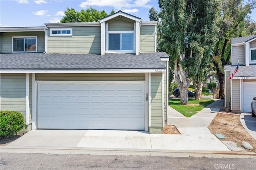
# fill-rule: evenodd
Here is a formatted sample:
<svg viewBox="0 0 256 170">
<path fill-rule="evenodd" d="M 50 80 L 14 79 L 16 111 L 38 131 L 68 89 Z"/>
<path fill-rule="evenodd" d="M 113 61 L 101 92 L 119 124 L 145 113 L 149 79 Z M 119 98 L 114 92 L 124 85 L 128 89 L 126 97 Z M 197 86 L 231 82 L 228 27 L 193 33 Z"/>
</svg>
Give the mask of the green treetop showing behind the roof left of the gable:
<svg viewBox="0 0 256 170">
<path fill-rule="evenodd" d="M 113 14 L 114 10 L 110 14 Z M 75 11 L 74 8 L 67 8 L 65 11 L 65 16 L 60 20 L 60 22 L 94 22 L 101 18 L 104 18 L 110 14 L 107 14 L 105 10 L 98 11 L 92 7 L 87 10 L 81 10 L 80 12 Z"/>
</svg>

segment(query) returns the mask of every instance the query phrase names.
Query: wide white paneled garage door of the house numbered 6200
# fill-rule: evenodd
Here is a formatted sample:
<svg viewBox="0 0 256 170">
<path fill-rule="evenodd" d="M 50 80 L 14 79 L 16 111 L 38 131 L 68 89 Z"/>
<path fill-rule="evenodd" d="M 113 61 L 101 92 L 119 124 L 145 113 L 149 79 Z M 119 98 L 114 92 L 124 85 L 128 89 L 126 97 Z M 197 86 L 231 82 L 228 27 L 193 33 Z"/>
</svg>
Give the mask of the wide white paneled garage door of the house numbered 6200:
<svg viewBox="0 0 256 170">
<path fill-rule="evenodd" d="M 38 83 L 38 129 L 144 129 L 144 82 Z"/>
</svg>

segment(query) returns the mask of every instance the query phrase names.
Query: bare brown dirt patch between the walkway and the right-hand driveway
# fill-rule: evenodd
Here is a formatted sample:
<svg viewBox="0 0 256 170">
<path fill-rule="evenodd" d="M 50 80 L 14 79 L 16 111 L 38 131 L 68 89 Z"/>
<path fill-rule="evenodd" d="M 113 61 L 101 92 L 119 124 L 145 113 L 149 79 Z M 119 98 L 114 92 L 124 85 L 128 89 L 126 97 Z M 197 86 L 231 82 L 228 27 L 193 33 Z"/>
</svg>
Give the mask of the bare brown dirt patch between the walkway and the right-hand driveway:
<svg viewBox="0 0 256 170">
<path fill-rule="evenodd" d="M 256 152 L 256 140 L 244 129 L 239 120 L 240 114 L 230 114 L 219 112 L 208 126 L 208 129 L 214 133 L 224 135 L 226 139 L 221 141 L 233 141 L 238 147 L 243 141 L 250 143 Z"/>
</svg>

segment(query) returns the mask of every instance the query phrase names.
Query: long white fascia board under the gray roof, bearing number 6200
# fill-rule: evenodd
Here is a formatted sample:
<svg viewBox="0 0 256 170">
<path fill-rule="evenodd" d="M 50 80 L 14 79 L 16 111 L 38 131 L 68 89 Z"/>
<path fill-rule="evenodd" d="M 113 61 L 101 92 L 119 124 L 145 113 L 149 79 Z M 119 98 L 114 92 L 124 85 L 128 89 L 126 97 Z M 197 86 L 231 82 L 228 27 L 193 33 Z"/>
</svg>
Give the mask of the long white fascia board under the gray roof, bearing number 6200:
<svg viewBox="0 0 256 170">
<path fill-rule="evenodd" d="M 0 73 L 145 73 L 155 72 L 156 70 L 162 70 L 165 68 L 155 69 L 102 69 L 102 70 L 0 70 Z"/>
</svg>

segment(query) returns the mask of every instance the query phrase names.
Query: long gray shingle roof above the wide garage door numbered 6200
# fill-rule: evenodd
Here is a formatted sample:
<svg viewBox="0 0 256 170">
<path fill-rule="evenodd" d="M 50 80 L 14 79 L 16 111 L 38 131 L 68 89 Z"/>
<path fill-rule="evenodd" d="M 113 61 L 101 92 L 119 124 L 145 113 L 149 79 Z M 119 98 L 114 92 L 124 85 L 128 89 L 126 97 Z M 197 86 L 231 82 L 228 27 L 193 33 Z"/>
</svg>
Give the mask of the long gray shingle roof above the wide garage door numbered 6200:
<svg viewBox="0 0 256 170">
<path fill-rule="evenodd" d="M 0 69 L 165 69 L 162 57 L 168 55 L 9 53 L 0 55 Z"/>
</svg>

